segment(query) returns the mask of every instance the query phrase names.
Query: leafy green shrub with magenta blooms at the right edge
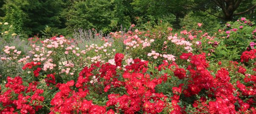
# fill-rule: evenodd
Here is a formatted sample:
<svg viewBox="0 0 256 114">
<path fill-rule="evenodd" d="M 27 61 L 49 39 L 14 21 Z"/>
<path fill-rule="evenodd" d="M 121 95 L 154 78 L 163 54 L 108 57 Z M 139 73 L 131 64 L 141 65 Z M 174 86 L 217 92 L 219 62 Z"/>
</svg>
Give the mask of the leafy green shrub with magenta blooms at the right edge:
<svg viewBox="0 0 256 114">
<path fill-rule="evenodd" d="M 248 23 L 245 23 L 248 22 Z M 250 42 L 255 42 L 253 38 L 253 30 L 255 27 L 252 26 L 253 22 L 249 20 L 228 22 L 223 31 L 217 35 L 219 45 L 214 52 L 214 58 L 228 59 L 228 60 L 240 60 L 240 55 L 246 49 L 250 48 Z M 249 24 L 250 23 L 250 24 Z M 230 24 L 230 25 L 229 25 Z M 239 28 L 241 27 L 242 28 Z M 237 29 L 237 31 L 232 31 Z M 230 32 L 227 34 L 226 32 Z"/>
</svg>

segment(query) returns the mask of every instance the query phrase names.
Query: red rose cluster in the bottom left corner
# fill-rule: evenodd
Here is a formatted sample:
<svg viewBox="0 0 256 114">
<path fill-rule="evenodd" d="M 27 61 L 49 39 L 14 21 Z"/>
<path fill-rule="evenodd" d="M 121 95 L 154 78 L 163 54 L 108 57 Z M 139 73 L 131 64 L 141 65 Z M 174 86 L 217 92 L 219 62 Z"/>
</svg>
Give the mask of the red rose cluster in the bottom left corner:
<svg viewBox="0 0 256 114">
<path fill-rule="evenodd" d="M 0 114 L 35 114 L 42 108 L 41 102 L 45 98 L 40 94 L 44 91 L 36 88 L 37 82 L 26 87 L 19 76 L 7 77 L 7 81 L 7 90 L 0 93 Z"/>
</svg>

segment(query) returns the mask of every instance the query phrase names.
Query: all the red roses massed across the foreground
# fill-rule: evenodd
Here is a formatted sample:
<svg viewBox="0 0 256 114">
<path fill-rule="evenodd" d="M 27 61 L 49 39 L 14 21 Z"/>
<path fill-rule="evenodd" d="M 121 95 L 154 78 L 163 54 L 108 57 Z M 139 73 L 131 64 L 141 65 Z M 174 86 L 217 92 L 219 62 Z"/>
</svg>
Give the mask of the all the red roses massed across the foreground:
<svg viewBox="0 0 256 114">
<path fill-rule="evenodd" d="M 255 56 L 255 53 L 244 54 L 241 58 L 251 59 L 245 57 L 247 55 Z M 131 65 L 121 68 L 123 58 L 123 54 L 117 53 L 114 58 L 116 65 L 101 65 L 97 62 L 84 67 L 76 82 L 71 80 L 63 84 L 58 83 L 55 87 L 58 87 L 59 91 L 50 101 L 50 114 L 159 114 L 163 111 L 170 114 L 256 114 L 256 76 L 247 74 L 249 71 L 246 72 L 244 65 L 238 67 L 238 62 L 230 63 L 231 66 L 234 65 L 235 72 L 241 73 L 245 78 L 231 84 L 228 72 L 230 67 L 220 68 L 213 76 L 207 70 L 209 63 L 204 53 L 182 54 L 180 59 L 188 61 L 189 64 L 185 68 L 164 60 L 161 65 L 155 67 L 159 74 L 149 72 L 148 62 L 140 59 L 134 59 Z M 221 64 L 219 62 L 219 65 Z M 24 70 L 36 65 L 40 63 L 27 63 Z M 34 76 L 38 76 L 40 70 L 41 68 L 36 68 Z M 170 98 L 155 90 L 157 86 L 162 86 L 160 84 L 170 83 L 168 81 L 172 77 L 169 76 L 169 71 L 178 77 L 175 78 L 178 82 L 170 88 Z M 183 83 L 185 81 L 186 83 Z M 55 73 L 47 74 L 45 82 L 47 86 L 55 85 Z M 23 85 L 21 77 L 8 77 L 4 87 L 6 89 L 0 93 L 0 114 L 35 114 L 39 111 L 45 98 L 42 96 L 44 91 L 38 89 L 37 84 L 39 82 L 33 81 L 27 87 Z M 116 92 L 114 89 L 124 91 Z M 95 92 L 108 97 L 105 106 L 97 105 L 88 99 L 87 95 Z M 195 95 L 201 95 L 199 99 L 189 101 L 195 111 L 186 111 L 187 107 L 181 106 L 184 103 L 183 98 L 195 98 Z"/>
</svg>

